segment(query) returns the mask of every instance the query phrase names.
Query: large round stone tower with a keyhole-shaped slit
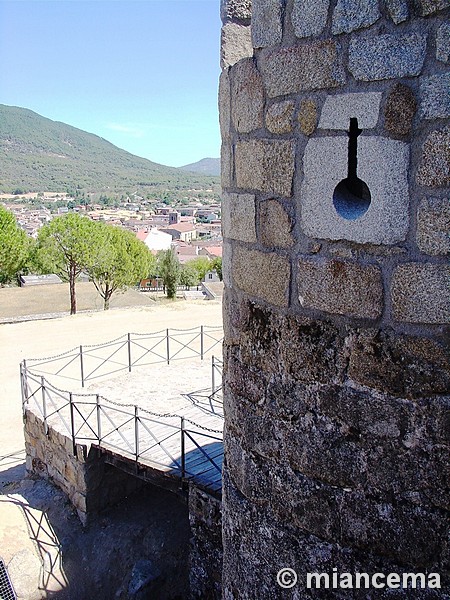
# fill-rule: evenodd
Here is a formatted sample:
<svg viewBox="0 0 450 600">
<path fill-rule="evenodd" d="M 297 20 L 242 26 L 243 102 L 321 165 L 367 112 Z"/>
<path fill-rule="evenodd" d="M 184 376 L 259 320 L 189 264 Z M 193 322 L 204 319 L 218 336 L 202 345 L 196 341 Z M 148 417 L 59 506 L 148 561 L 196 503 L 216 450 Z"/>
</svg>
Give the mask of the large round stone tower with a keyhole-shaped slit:
<svg viewBox="0 0 450 600">
<path fill-rule="evenodd" d="M 444 597 L 448 7 L 222 0 L 226 599 Z"/>
</svg>

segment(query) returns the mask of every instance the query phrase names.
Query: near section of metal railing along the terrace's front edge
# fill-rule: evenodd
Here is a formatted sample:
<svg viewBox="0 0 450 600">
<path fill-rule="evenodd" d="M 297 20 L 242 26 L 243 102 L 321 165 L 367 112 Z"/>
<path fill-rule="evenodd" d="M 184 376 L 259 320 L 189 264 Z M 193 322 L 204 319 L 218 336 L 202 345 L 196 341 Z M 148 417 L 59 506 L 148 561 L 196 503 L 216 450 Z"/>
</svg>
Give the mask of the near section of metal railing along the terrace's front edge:
<svg viewBox="0 0 450 600">
<path fill-rule="evenodd" d="M 94 443 L 133 458 L 136 463 L 183 479 L 200 480 L 205 487 L 208 480 L 217 480 L 217 474 L 221 474 L 221 429 L 204 427 L 175 414 L 118 404 L 99 394 L 60 390 L 23 363 L 20 377 L 24 411 L 33 402 L 46 435 L 50 427 L 62 426 L 63 433 L 72 440 L 74 454 L 76 444 Z M 209 445 L 213 445 L 212 451 Z"/>
</svg>

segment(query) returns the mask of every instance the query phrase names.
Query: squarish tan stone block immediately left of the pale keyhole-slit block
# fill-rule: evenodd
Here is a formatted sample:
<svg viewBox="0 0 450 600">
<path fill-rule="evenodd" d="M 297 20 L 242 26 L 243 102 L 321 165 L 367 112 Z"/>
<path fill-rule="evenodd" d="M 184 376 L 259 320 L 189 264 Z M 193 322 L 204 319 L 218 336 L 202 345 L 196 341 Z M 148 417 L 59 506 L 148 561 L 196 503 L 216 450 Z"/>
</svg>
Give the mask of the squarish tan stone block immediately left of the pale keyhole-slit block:
<svg viewBox="0 0 450 600">
<path fill-rule="evenodd" d="M 291 141 L 250 140 L 235 148 L 237 186 L 290 196 L 294 174 Z"/>
</svg>

